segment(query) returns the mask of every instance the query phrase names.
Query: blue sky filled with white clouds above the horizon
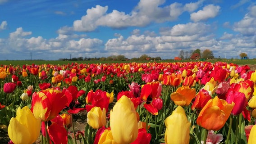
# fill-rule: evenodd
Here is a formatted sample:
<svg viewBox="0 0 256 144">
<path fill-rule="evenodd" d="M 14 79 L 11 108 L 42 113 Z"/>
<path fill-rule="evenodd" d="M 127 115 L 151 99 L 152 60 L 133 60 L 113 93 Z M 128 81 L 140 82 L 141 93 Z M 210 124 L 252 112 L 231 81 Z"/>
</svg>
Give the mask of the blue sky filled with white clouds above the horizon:
<svg viewBox="0 0 256 144">
<path fill-rule="evenodd" d="M 0 60 L 256 58 L 253 0 L 0 0 Z"/>
</svg>

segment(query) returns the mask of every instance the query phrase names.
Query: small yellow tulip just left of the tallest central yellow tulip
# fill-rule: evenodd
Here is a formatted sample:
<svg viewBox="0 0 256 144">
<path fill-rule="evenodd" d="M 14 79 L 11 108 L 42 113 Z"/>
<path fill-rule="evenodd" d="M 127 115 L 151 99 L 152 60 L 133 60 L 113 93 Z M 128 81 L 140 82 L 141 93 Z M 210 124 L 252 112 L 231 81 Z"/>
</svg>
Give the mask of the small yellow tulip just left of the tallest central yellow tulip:
<svg viewBox="0 0 256 144">
<path fill-rule="evenodd" d="M 87 123 L 94 129 L 99 129 L 106 125 L 106 110 L 100 107 L 91 108 L 87 113 Z"/>
</svg>

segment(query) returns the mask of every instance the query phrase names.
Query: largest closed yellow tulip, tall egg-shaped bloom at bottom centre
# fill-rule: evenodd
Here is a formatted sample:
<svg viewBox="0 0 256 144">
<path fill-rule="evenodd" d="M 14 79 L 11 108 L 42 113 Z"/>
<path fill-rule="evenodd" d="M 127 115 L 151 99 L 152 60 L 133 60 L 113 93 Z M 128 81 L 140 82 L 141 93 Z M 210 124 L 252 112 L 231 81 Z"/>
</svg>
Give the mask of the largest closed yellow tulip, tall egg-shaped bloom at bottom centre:
<svg viewBox="0 0 256 144">
<path fill-rule="evenodd" d="M 133 102 L 125 95 L 110 111 L 110 128 L 117 144 L 130 144 L 137 139 L 137 114 Z"/>
</svg>

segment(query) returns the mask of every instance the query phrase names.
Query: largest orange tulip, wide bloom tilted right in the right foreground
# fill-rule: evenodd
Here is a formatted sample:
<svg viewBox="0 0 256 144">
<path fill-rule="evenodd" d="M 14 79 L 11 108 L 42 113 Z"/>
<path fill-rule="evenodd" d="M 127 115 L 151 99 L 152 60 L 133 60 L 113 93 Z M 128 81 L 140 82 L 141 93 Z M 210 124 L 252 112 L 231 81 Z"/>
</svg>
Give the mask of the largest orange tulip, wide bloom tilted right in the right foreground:
<svg viewBox="0 0 256 144">
<path fill-rule="evenodd" d="M 197 125 L 206 130 L 220 130 L 228 120 L 235 103 L 227 103 L 215 96 L 204 106 L 197 117 Z M 218 121 L 218 122 L 216 122 Z"/>
</svg>

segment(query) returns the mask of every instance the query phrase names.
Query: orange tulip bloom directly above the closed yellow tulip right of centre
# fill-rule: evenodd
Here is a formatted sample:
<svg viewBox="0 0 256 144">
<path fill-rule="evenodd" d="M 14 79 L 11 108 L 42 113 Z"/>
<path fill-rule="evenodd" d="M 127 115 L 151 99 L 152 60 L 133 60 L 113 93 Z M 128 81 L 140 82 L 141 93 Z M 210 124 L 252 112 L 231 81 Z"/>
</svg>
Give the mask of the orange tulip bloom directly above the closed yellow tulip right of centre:
<svg viewBox="0 0 256 144">
<path fill-rule="evenodd" d="M 192 99 L 196 97 L 196 89 L 183 85 L 170 96 L 176 105 L 188 106 Z"/>
</svg>

